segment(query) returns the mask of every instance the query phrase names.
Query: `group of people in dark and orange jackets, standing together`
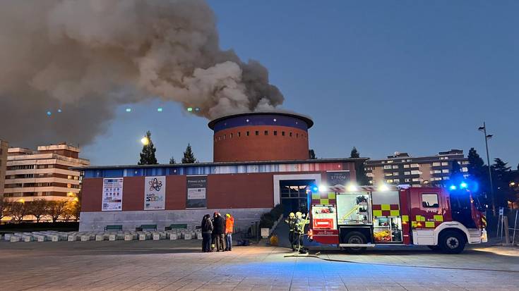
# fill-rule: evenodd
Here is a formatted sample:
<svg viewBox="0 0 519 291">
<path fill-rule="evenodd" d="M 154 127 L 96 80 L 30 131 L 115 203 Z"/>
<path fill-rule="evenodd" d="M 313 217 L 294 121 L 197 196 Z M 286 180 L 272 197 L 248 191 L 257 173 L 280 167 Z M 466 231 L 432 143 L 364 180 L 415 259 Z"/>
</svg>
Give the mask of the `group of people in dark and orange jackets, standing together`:
<svg viewBox="0 0 519 291">
<path fill-rule="evenodd" d="M 225 218 L 223 218 L 219 212 L 215 212 L 212 219 L 209 214 L 205 214 L 201 227 L 203 252 L 232 250 L 234 217 L 230 213 L 226 213 Z"/>
</svg>

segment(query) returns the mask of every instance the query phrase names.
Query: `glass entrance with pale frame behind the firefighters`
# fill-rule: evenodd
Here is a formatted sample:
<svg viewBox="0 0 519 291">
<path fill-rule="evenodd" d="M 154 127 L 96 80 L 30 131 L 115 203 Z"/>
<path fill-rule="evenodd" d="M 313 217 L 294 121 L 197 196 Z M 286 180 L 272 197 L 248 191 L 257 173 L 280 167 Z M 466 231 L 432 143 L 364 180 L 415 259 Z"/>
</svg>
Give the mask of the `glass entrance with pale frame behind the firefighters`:
<svg viewBox="0 0 519 291">
<path fill-rule="evenodd" d="M 288 216 L 288 213 L 300 211 L 308 213 L 308 194 L 311 185 L 315 184 L 315 180 L 281 180 L 281 204 L 283 206 L 283 213 Z"/>
</svg>

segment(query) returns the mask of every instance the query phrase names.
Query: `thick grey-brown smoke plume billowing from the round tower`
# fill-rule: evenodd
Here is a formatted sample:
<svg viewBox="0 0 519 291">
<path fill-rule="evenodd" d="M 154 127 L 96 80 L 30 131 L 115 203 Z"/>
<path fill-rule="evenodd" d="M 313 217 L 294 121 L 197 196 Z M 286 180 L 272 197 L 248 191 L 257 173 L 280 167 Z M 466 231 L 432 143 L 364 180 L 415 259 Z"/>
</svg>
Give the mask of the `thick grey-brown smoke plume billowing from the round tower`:
<svg viewBox="0 0 519 291">
<path fill-rule="evenodd" d="M 88 144 L 117 105 L 157 97 L 206 118 L 283 101 L 261 63 L 220 49 L 205 1 L 1 1 L 0 138 Z"/>
</svg>

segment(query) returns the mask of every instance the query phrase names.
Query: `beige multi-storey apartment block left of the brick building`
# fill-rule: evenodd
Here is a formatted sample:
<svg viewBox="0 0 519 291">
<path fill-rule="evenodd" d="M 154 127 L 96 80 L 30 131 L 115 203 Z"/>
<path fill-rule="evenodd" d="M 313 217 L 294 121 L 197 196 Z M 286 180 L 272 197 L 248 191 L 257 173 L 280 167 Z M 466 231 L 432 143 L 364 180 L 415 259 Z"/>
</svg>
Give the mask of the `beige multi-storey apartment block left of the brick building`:
<svg viewBox="0 0 519 291">
<path fill-rule="evenodd" d="M 80 192 L 81 173 L 70 167 L 90 165 L 79 158 L 79 152 L 78 147 L 65 143 L 40 146 L 36 151 L 9 148 L 4 197 L 24 202 L 74 199 Z"/>
</svg>

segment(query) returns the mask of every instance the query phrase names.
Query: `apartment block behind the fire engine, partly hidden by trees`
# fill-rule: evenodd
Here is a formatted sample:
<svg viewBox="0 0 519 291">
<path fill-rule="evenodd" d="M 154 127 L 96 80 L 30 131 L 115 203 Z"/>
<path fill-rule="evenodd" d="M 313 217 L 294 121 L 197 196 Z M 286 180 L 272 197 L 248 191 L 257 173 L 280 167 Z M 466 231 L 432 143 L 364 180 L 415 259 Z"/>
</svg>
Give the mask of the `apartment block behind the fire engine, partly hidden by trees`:
<svg viewBox="0 0 519 291">
<path fill-rule="evenodd" d="M 460 165 L 461 172 L 467 178 L 469 161 L 461 149 L 441 151 L 434 156 L 418 157 L 395 152 L 387 159 L 366 161 L 364 168 L 371 185 L 386 183 L 421 187 L 448 180 L 451 176 L 453 162 Z"/>
</svg>

